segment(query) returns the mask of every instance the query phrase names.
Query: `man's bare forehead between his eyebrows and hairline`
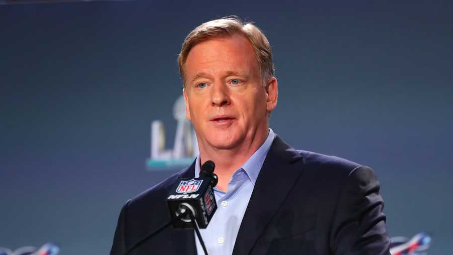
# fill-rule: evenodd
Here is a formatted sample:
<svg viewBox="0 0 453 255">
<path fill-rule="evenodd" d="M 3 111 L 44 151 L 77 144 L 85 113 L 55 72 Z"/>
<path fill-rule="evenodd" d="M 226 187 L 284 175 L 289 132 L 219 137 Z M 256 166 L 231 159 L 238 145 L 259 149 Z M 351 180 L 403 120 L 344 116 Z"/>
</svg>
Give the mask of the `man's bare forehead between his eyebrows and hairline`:
<svg viewBox="0 0 453 255">
<path fill-rule="evenodd" d="M 195 45 L 184 64 L 185 76 L 190 80 L 203 72 L 224 74 L 231 72 L 254 75 L 259 70 L 255 51 L 243 35 L 213 38 Z"/>
</svg>

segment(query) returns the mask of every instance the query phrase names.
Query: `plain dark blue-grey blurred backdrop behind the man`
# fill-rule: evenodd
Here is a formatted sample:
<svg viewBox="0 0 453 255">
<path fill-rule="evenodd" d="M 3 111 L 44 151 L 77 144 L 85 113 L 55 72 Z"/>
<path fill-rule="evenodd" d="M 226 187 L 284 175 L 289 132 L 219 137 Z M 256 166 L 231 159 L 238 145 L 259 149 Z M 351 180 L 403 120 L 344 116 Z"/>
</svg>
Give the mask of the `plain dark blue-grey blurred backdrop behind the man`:
<svg viewBox="0 0 453 255">
<path fill-rule="evenodd" d="M 452 2 L 32 2 L 0 1 L 0 246 L 107 254 L 127 199 L 183 168 L 146 160 L 153 120 L 173 146 L 185 36 L 238 15 L 273 47 L 273 131 L 371 166 L 390 235 L 453 250 Z"/>
</svg>

